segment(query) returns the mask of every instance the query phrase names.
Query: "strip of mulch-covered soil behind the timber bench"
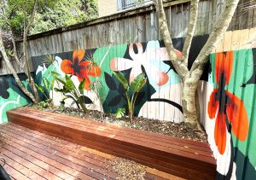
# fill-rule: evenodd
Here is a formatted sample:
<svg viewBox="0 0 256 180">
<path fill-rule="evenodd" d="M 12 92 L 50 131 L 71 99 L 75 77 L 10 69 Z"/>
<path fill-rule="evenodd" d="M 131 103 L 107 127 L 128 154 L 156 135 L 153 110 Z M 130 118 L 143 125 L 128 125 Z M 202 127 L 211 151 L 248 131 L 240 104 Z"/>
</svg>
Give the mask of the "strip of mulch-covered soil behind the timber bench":
<svg viewBox="0 0 256 180">
<path fill-rule="evenodd" d="M 181 139 L 189 139 L 199 142 L 207 142 L 206 133 L 196 133 L 184 123 L 173 123 L 169 121 L 160 121 L 155 119 L 146 119 L 142 117 L 135 117 L 134 122 L 131 123 L 128 116 L 122 119 L 116 119 L 112 113 L 101 113 L 99 111 L 88 110 L 87 113 L 83 113 L 80 109 L 67 107 L 62 110 L 58 107 L 40 107 L 38 105 L 31 105 L 30 107 L 48 111 L 52 113 L 61 113 L 71 116 L 80 117 L 82 119 L 91 119 L 99 122 L 104 122 L 112 125 L 119 125 L 123 127 L 130 127 L 143 131 L 151 131 L 155 133 L 165 134 L 168 136 L 176 136 Z"/>
</svg>

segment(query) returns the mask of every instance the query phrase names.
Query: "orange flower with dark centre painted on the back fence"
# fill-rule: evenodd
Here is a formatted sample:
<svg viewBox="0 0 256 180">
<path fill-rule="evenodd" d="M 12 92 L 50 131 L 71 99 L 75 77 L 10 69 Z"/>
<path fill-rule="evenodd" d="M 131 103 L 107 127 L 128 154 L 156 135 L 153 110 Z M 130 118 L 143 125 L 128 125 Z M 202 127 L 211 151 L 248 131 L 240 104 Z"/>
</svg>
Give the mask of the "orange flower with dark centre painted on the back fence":
<svg viewBox="0 0 256 180">
<path fill-rule="evenodd" d="M 72 74 L 78 77 L 79 82 L 85 78 L 84 89 L 90 90 L 90 78 L 99 77 L 101 75 L 101 68 L 93 61 L 82 61 L 85 55 L 85 50 L 74 50 L 72 60 L 61 61 L 61 71 L 63 73 Z"/>
</svg>

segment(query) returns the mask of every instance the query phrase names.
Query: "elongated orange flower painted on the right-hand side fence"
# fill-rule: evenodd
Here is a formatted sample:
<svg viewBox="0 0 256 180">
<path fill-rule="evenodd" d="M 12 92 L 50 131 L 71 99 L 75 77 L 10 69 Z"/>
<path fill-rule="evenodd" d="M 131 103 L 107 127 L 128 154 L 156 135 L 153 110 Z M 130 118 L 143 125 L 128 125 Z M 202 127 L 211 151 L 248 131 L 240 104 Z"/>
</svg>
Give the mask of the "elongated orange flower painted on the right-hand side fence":
<svg viewBox="0 0 256 180">
<path fill-rule="evenodd" d="M 217 53 L 215 59 L 215 78 L 217 88 L 212 91 L 208 102 L 208 115 L 215 121 L 214 139 L 218 152 L 224 154 L 226 147 L 227 127 L 231 124 L 234 135 L 241 141 L 247 138 L 248 119 L 244 102 L 235 94 L 225 90 L 229 84 L 233 67 L 233 52 Z"/>
</svg>

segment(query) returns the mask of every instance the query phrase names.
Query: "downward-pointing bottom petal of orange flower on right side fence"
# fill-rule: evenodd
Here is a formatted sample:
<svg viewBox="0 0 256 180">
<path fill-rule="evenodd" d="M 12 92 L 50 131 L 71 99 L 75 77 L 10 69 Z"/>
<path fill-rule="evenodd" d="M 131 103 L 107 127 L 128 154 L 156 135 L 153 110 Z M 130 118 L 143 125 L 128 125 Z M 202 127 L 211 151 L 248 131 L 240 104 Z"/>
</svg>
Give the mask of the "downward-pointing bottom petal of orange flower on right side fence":
<svg viewBox="0 0 256 180">
<path fill-rule="evenodd" d="M 227 136 L 226 131 L 225 114 L 218 113 L 215 121 L 214 139 L 220 154 L 224 154 L 225 152 Z"/>
</svg>

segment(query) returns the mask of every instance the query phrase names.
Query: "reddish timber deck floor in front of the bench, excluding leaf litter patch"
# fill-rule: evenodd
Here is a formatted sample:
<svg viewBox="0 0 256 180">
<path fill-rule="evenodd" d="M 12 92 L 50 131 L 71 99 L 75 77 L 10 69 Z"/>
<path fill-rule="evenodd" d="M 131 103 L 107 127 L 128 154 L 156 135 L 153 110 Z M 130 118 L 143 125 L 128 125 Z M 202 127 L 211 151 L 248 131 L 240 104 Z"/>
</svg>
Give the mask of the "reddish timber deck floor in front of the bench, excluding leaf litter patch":
<svg viewBox="0 0 256 180">
<path fill-rule="evenodd" d="M 116 179 L 113 156 L 12 123 L 0 125 L 0 156 L 12 179 Z M 147 167 L 145 179 L 182 179 Z"/>
</svg>

